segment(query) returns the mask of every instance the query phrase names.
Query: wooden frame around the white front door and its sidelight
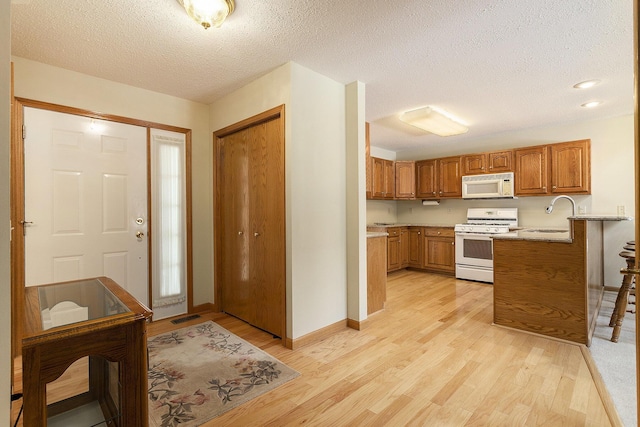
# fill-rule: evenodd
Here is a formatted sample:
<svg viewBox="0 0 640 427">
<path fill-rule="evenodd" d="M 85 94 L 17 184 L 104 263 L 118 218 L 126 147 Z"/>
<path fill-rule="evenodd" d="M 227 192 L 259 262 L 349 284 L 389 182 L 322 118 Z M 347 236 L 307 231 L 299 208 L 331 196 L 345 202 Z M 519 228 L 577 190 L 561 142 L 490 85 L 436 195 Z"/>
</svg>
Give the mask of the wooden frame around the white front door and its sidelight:
<svg viewBox="0 0 640 427">
<path fill-rule="evenodd" d="M 20 221 L 24 218 L 24 107 L 39 108 L 59 113 L 89 117 L 97 120 L 105 120 L 116 123 L 128 124 L 146 128 L 147 159 L 150 157 L 150 129 L 160 129 L 185 135 L 186 156 L 186 200 L 187 200 L 187 311 L 193 312 L 193 250 L 192 250 L 192 221 L 191 221 L 191 129 L 169 126 L 128 117 L 104 114 L 80 108 L 51 104 L 26 98 L 13 98 L 13 111 L 11 120 L 11 224 L 14 228 L 11 240 L 11 347 L 12 359 L 21 354 L 22 330 L 24 325 L 24 287 L 25 287 L 25 253 L 23 225 Z M 147 162 L 147 182 L 150 182 L 150 164 Z M 149 187 L 149 186 L 147 186 Z M 148 227 L 151 230 L 151 194 L 147 188 L 147 218 Z M 149 233 L 148 245 L 148 292 L 149 305 L 151 306 L 151 236 Z"/>
</svg>

